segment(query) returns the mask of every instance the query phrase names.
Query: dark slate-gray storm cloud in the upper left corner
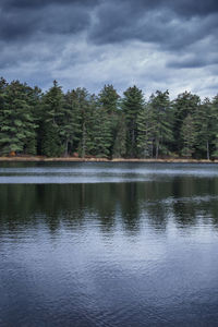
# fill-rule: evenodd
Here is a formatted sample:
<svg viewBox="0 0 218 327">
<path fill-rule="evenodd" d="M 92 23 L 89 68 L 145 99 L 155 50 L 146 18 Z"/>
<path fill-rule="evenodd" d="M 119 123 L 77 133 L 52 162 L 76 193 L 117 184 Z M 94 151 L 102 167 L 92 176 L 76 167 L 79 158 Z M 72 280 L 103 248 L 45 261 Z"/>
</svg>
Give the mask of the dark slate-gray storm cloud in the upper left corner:
<svg viewBox="0 0 218 327">
<path fill-rule="evenodd" d="M 0 39 L 25 43 L 43 33 L 69 34 L 86 29 L 90 24 L 90 7 L 97 0 L 7 0 L 0 4 Z"/>
</svg>

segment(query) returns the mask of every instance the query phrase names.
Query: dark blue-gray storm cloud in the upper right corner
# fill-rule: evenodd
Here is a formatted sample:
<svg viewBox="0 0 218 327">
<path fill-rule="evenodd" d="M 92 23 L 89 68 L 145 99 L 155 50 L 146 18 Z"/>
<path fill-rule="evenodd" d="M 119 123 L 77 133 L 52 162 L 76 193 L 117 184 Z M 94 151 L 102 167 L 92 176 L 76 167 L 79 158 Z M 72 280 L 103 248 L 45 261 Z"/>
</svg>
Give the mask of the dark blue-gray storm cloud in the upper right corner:
<svg viewBox="0 0 218 327">
<path fill-rule="evenodd" d="M 90 37 L 98 44 L 138 39 L 178 49 L 211 32 L 217 35 L 217 1 L 107 2 L 98 7 Z"/>
</svg>

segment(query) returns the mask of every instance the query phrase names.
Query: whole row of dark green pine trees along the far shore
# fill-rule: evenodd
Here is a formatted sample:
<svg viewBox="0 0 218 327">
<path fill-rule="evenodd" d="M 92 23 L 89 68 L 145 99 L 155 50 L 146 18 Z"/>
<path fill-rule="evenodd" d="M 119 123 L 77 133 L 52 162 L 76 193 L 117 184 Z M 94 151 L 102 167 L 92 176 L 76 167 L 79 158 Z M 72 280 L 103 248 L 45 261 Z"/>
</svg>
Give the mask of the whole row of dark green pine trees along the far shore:
<svg viewBox="0 0 218 327">
<path fill-rule="evenodd" d="M 64 93 L 57 81 L 37 86 L 0 78 L 0 155 L 102 158 L 218 158 L 218 95 L 201 100 L 184 92 L 170 100 L 157 90 L 146 99 L 112 85 L 98 95 Z"/>
</svg>

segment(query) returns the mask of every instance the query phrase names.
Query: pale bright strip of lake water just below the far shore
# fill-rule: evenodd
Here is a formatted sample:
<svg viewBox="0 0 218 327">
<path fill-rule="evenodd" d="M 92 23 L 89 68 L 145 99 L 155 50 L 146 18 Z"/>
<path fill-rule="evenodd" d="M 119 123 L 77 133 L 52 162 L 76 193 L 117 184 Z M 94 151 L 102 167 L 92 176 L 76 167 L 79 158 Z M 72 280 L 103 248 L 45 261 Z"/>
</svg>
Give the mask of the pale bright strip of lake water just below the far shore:
<svg viewBox="0 0 218 327">
<path fill-rule="evenodd" d="M 60 165 L 60 167 L 59 167 Z M 0 183 L 140 182 L 175 177 L 218 178 L 218 165 L 189 164 L 61 164 L 0 168 Z"/>
</svg>

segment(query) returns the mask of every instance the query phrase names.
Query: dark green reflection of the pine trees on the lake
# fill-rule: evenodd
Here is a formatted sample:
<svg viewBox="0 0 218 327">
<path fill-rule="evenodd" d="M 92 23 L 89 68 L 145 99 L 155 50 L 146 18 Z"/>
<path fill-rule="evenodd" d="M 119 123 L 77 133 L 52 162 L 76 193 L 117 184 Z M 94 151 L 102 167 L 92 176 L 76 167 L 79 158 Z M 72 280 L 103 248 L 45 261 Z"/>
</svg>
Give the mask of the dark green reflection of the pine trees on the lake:
<svg viewBox="0 0 218 327">
<path fill-rule="evenodd" d="M 169 217 L 178 227 L 210 219 L 218 226 L 217 179 L 174 178 L 166 181 L 95 184 L 2 184 L 1 230 L 47 225 L 51 232 L 60 225 L 82 229 L 95 222 L 102 232 L 117 225 L 137 232 L 146 222 L 165 231 Z M 214 197 L 209 197 L 209 196 Z M 208 196 L 208 197 L 207 197 Z"/>
</svg>

